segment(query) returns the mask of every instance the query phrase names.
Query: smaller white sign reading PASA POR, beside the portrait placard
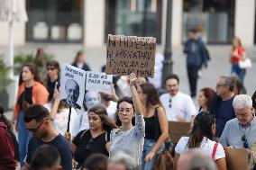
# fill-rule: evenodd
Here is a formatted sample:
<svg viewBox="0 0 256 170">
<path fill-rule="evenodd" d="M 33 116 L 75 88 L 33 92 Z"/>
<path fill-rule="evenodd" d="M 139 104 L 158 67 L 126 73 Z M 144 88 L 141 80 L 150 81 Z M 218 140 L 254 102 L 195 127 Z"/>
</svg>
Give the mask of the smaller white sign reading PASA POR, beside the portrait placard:
<svg viewBox="0 0 256 170">
<path fill-rule="evenodd" d="M 94 73 L 87 71 L 87 91 L 104 92 L 106 94 L 112 93 L 112 75 L 106 75 L 105 73 Z"/>
</svg>

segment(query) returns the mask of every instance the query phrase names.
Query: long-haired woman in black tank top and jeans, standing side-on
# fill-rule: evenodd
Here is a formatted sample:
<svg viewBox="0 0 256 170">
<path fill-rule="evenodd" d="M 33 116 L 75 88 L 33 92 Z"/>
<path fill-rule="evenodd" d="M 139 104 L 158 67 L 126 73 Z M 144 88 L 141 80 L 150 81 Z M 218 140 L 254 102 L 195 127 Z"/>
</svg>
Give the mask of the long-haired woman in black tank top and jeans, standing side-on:
<svg viewBox="0 0 256 170">
<path fill-rule="evenodd" d="M 149 170 L 152 169 L 157 152 L 169 138 L 168 121 L 154 85 L 150 83 L 137 85 L 137 92 L 142 101 L 145 121 L 142 170 Z"/>
</svg>

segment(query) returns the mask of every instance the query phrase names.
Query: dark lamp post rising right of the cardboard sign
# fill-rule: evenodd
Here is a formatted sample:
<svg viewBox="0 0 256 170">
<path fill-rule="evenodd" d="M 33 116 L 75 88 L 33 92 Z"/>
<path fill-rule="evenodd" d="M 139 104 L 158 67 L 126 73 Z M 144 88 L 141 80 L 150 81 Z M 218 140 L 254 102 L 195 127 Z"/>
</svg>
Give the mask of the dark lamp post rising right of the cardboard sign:
<svg viewBox="0 0 256 170">
<path fill-rule="evenodd" d="M 167 0 L 167 16 L 166 16 L 166 31 L 165 31 L 165 48 L 164 60 L 162 67 L 161 87 L 164 88 L 164 79 L 172 73 L 172 59 L 171 59 L 171 17 L 172 17 L 172 0 Z"/>
</svg>

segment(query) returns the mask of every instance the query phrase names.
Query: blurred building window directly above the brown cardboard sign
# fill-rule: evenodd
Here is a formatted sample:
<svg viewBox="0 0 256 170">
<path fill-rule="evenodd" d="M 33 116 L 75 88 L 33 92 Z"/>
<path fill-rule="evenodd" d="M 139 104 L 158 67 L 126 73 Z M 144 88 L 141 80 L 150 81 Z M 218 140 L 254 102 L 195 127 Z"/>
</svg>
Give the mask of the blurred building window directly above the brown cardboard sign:
<svg viewBox="0 0 256 170">
<path fill-rule="evenodd" d="M 107 0 L 107 34 L 155 37 L 160 43 L 161 0 Z"/>
</svg>

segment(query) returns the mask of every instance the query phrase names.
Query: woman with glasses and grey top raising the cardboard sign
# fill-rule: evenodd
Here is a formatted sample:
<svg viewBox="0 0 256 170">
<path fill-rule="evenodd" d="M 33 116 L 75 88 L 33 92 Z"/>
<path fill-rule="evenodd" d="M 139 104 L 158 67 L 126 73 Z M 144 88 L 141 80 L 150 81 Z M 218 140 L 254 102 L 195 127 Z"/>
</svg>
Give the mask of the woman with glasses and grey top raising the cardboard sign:
<svg viewBox="0 0 256 170">
<path fill-rule="evenodd" d="M 123 97 L 117 103 L 117 114 L 121 121 L 119 129 L 114 129 L 110 134 L 110 141 L 107 144 L 109 156 L 113 157 L 118 151 L 134 157 L 137 164 L 142 162 L 142 149 L 144 143 L 145 123 L 142 115 L 142 103 L 135 88 L 136 76 L 134 73 L 128 76 L 130 79 L 133 100 L 130 97 Z M 135 126 L 132 120 L 135 115 Z M 129 144 L 129 147 L 127 147 Z"/>
</svg>

